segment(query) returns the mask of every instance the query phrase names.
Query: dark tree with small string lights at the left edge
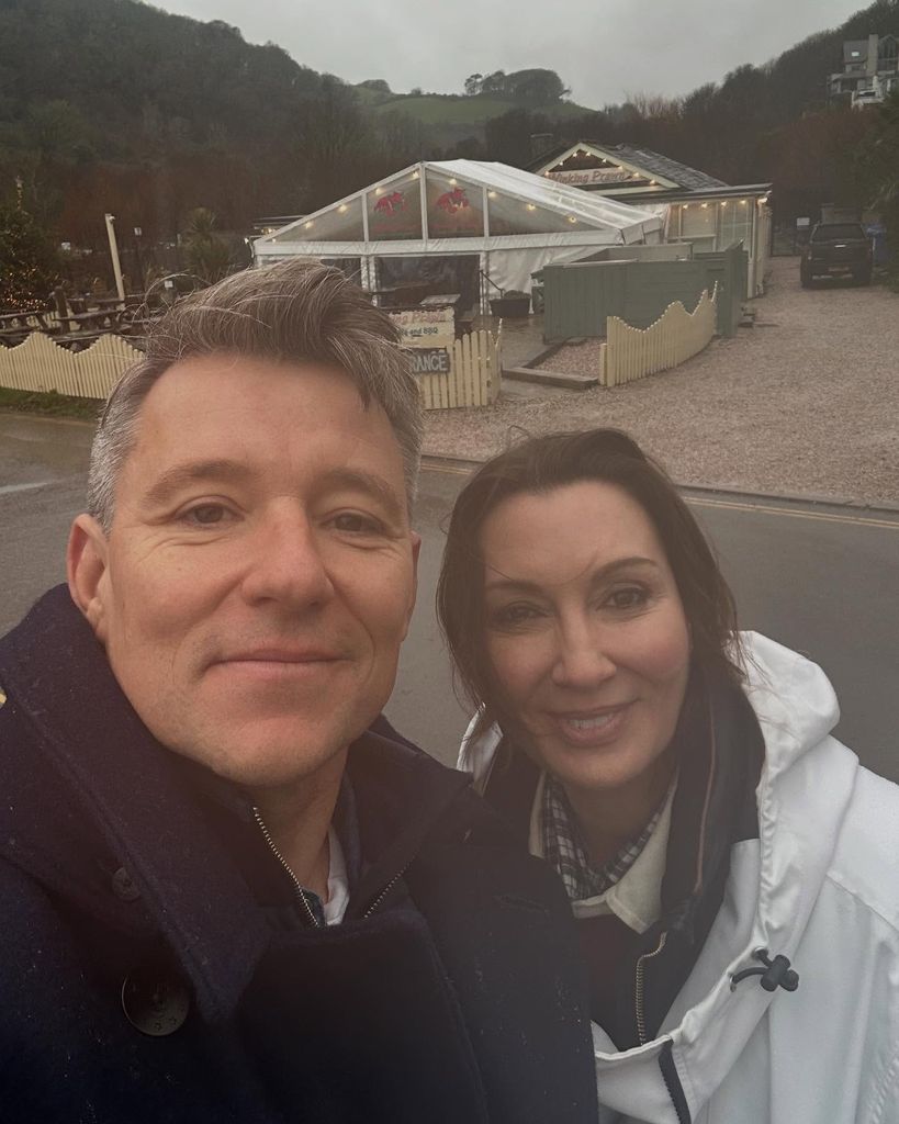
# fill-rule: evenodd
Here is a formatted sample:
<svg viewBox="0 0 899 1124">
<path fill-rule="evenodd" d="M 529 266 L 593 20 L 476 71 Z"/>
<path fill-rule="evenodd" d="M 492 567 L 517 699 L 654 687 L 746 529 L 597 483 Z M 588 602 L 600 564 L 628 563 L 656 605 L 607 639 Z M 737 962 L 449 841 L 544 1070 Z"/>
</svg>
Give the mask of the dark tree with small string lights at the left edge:
<svg viewBox="0 0 899 1124">
<path fill-rule="evenodd" d="M 51 237 L 18 205 L 0 203 L 0 308 L 38 311 L 58 281 Z"/>
</svg>

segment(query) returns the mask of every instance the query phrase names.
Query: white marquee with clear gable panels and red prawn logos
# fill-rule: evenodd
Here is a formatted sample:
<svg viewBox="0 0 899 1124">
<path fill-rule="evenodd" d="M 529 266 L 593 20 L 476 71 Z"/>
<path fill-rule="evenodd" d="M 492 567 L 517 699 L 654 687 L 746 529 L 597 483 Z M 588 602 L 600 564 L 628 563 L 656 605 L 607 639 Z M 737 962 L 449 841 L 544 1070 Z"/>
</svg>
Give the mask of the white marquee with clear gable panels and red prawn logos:
<svg viewBox="0 0 899 1124">
<path fill-rule="evenodd" d="M 254 243 L 258 264 L 339 261 L 376 291 L 405 269 L 455 269 L 485 307 L 498 290 L 530 289 L 533 271 L 573 250 L 663 239 L 664 216 L 508 164 L 429 161 L 307 215 Z M 455 263 L 451 265 L 451 263 Z M 463 269 L 464 266 L 464 269 Z M 470 280 L 471 287 L 471 280 Z"/>
</svg>

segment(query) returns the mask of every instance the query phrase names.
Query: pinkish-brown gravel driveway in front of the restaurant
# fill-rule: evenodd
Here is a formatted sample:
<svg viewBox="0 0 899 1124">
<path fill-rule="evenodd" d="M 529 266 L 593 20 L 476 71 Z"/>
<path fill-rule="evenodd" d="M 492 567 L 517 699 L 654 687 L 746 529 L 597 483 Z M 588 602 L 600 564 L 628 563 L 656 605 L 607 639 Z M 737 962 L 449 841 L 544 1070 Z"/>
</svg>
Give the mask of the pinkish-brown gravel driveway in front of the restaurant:
<svg viewBox="0 0 899 1124">
<path fill-rule="evenodd" d="M 611 390 L 432 410 L 425 451 L 480 460 L 512 430 L 627 429 L 684 484 L 899 502 L 899 296 L 799 285 L 778 257 L 753 328 L 714 339 L 673 371 Z M 547 365 L 590 370 L 596 344 Z"/>
</svg>

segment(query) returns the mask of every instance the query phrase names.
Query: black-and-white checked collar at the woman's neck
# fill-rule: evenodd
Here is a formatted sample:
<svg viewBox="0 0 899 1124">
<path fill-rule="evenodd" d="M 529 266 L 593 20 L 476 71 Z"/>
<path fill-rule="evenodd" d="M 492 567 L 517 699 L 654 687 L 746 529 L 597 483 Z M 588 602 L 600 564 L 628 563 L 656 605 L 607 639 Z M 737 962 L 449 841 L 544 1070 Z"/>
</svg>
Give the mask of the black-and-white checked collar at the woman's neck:
<svg viewBox="0 0 899 1124">
<path fill-rule="evenodd" d="M 543 854 L 559 872 L 571 901 L 583 901 L 611 889 L 630 870 L 655 830 L 668 800 L 662 800 L 650 822 L 599 869 L 590 861 L 587 846 L 564 788 L 545 774 L 541 805 Z"/>
</svg>

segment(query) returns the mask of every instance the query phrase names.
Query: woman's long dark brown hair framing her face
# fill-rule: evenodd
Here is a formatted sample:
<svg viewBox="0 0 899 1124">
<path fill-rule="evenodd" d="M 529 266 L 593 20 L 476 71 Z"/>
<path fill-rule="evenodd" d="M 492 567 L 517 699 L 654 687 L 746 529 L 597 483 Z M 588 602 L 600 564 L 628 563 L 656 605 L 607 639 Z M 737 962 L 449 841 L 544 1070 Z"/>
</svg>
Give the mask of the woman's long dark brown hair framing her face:
<svg viewBox="0 0 899 1124">
<path fill-rule="evenodd" d="M 437 584 L 437 619 L 470 701 L 483 705 L 482 731 L 498 717 L 494 679 L 483 637 L 481 528 L 510 496 L 548 492 L 596 480 L 637 502 L 655 527 L 678 583 L 696 663 L 743 680 L 737 663 L 734 596 L 705 535 L 661 465 L 619 429 L 529 437 L 482 465 L 462 489 L 450 519 Z"/>
</svg>

